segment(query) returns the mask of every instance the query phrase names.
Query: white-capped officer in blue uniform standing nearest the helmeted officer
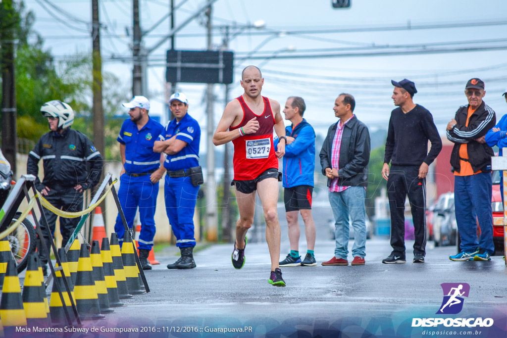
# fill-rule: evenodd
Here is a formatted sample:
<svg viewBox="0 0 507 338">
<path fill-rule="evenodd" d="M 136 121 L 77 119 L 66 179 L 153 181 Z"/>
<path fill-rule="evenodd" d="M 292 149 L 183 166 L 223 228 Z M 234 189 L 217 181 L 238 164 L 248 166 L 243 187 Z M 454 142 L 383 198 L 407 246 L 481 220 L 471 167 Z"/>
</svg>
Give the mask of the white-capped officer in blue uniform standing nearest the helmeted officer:
<svg viewBox="0 0 507 338">
<path fill-rule="evenodd" d="M 135 211 L 139 207 L 141 232 L 139 233 L 139 260 L 143 270 L 151 270 L 148 255 L 155 237 L 155 205 L 159 191 L 158 181 L 164 175 L 163 155 L 153 152 L 153 143 L 164 127 L 150 119 L 150 102 L 144 96 L 134 96 L 123 106 L 129 108 L 130 119 L 123 122 L 118 135 L 123 169 L 120 173 L 118 199 L 129 228 L 132 228 Z M 123 244 L 123 227 L 120 214 L 116 217 L 115 232 Z"/>
</svg>

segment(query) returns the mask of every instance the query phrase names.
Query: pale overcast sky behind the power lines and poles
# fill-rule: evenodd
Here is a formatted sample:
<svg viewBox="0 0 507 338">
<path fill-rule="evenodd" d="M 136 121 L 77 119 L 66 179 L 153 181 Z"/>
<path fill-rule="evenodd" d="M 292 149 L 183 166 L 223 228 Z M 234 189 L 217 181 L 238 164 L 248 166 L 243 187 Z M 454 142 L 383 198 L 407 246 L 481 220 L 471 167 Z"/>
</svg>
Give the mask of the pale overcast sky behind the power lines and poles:
<svg viewBox="0 0 507 338">
<path fill-rule="evenodd" d="M 125 96 L 130 97 L 132 63 L 117 58 L 131 56 L 132 2 L 99 2 L 100 20 L 106 26 L 101 29 L 103 70 L 115 73 L 125 86 Z M 91 50 L 90 0 L 25 0 L 25 3 L 35 13 L 35 30 L 44 37 L 45 47 L 51 49 L 57 59 Z M 177 26 L 205 2 L 176 0 L 175 3 L 183 3 L 176 11 Z M 336 122 L 332 107 L 342 92 L 354 95 L 354 112 L 359 120 L 371 129 L 386 129 L 394 108 L 390 98 L 391 79 L 408 78 L 415 82 L 418 93 L 414 101 L 431 111 L 441 134 L 456 109 L 466 103 L 464 86 L 470 78 L 479 77 L 486 83 L 484 100 L 496 111 L 497 119 L 507 110 L 500 96 L 507 88 L 507 1 L 351 0 L 351 3 L 350 9 L 337 10 L 331 7 L 331 0 L 217 0 L 213 5 L 213 25 L 265 22 L 265 28 L 244 29 L 230 43 L 236 60 L 247 54 L 264 58 L 236 61 L 230 98 L 242 93 L 241 69 L 255 64 L 261 66 L 265 78 L 263 95 L 278 100 L 282 106 L 287 96 L 302 96 L 307 104 L 305 118 L 322 134 Z M 168 0 L 140 0 L 142 29 L 149 29 L 166 15 L 168 4 Z M 176 49 L 205 49 L 204 22 L 204 17 L 200 16 L 180 30 Z M 433 28 L 421 29 L 421 26 Z M 388 27 L 391 28 L 386 29 Z M 168 30 L 169 20 L 166 19 L 144 37 L 144 46 L 150 49 Z M 333 32 L 314 33 L 324 30 Z M 218 48 L 223 31 L 216 28 L 213 34 L 213 45 Z M 262 47 L 252 53 L 259 45 Z M 150 114 L 162 115 L 162 121 L 167 120 L 167 112 L 163 106 L 165 68 L 161 65 L 168 47 L 169 41 L 165 41 L 149 57 L 149 93 L 146 96 L 152 102 Z M 490 50 L 410 54 L 421 49 L 485 48 Z M 379 52 L 394 54 L 336 56 Z M 335 56 L 315 57 L 322 54 Z M 285 58 L 301 55 L 312 55 L 312 58 Z M 177 88 L 189 97 L 190 114 L 201 122 L 204 131 L 205 86 L 178 84 Z M 214 92 L 216 125 L 224 108 L 224 86 L 215 85 Z M 205 150 L 204 142 L 201 149 Z"/>
</svg>

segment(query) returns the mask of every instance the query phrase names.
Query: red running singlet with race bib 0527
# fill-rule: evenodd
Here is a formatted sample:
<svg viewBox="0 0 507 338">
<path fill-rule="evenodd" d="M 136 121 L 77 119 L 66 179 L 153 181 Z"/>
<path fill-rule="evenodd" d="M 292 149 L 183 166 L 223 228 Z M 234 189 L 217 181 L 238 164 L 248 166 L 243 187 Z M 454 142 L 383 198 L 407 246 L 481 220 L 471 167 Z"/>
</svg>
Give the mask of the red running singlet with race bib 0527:
<svg viewBox="0 0 507 338">
<path fill-rule="evenodd" d="M 264 100 L 264 111 L 256 115 L 245 103 L 242 96 L 236 98 L 243 108 L 243 120 L 239 125 L 229 128 L 235 130 L 244 127 L 248 121 L 257 118 L 259 130 L 253 134 L 240 136 L 232 141 L 234 144 L 234 179 L 249 180 L 257 178 L 270 168 L 278 169 L 278 159 L 273 148 L 273 126 L 275 117 L 267 97 Z"/>
</svg>

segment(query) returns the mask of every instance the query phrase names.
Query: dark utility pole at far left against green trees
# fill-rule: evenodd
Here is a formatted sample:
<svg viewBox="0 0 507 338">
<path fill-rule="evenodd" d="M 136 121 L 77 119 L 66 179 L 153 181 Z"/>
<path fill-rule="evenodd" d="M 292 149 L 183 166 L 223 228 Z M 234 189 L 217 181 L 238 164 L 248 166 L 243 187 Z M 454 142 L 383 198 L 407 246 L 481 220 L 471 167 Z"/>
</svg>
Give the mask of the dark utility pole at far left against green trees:
<svg viewBox="0 0 507 338">
<path fill-rule="evenodd" d="M 2 152 L 11 164 L 11 169 L 16 173 L 16 153 L 18 151 L 18 138 L 16 127 L 16 82 L 14 77 L 14 28 L 17 23 L 16 13 L 12 0 L 0 2 L 2 11 L 12 14 L 7 15 L 12 22 L 3 22 L 4 29 L 0 29 L 0 65 L 2 67 Z"/>
</svg>

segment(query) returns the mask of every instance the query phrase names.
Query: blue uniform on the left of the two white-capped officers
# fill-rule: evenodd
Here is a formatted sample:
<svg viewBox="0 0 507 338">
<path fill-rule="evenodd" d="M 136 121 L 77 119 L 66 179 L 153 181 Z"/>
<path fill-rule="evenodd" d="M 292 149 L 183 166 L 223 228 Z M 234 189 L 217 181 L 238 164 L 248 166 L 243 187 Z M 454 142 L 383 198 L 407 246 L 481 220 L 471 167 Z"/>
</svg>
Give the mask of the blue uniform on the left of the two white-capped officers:
<svg viewBox="0 0 507 338">
<path fill-rule="evenodd" d="M 117 138 L 118 142 L 125 144 L 125 174 L 120 177 L 118 199 L 129 228 L 133 226 L 135 211 L 139 207 L 141 232 L 138 249 L 151 250 L 153 247 L 159 183 L 153 184 L 150 175 L 160 168 L 160 154 L 153 151 L 153 144 L 163 130 L 164 127 L 153 119 L 149 119 L 141 130 L 127 119 L 123 122 Z M 115 232 L 120 245 L 123 244 L 125 228 L 119 213 L 116 217 Z"/>
</svg>

